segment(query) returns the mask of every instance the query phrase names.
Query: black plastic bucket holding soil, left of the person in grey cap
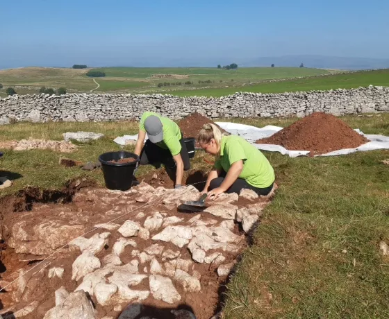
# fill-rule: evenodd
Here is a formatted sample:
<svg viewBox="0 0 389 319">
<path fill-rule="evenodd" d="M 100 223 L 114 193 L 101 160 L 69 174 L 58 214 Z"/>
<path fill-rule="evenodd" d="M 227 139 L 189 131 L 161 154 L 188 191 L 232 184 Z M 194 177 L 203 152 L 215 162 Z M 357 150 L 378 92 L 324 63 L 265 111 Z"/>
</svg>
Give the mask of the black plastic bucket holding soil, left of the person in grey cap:
<svg viewBox="0 0 389 319">
<path fill-rule="evenodd" d="M 135 162 L 131 163 L 113 163 L 112 160 L 120 160 L 122 158 L 135 158 Z M 99 156 L 101 169 L 103 170 L 104 181 L 108 189 L 117 189 L 126 191 L 131 189 L 135 169 L 139 164 L 139 156 L 134 153 L 129 153 L 124 150 L 118 152 L 108 152 Z"/>
</svg>

